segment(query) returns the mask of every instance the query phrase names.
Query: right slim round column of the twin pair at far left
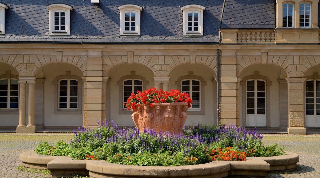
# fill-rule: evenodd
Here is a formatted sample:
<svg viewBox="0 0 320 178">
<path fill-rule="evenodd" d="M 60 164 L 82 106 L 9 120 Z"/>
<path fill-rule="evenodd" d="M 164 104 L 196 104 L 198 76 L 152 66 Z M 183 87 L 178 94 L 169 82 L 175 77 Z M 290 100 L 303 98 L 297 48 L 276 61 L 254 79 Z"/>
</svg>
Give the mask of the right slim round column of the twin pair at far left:
<svg viewBox="0 0 320 178">
<path fill-rule="evenodd" d="M 35 125 L 35 81 L 29 81 L 28 94 L 28 125 L 27 127 L 36 127 Z"/>
</svg>

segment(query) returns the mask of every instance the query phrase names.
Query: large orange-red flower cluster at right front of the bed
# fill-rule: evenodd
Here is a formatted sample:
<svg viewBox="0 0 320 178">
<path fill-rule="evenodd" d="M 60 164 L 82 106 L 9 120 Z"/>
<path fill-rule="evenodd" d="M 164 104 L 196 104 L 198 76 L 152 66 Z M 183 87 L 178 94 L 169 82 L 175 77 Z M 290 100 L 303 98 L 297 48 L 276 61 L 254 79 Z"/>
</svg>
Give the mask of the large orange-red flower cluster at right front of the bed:
<svg viewBox="0 0 320 178">
<path fill-rule="evenodd" d="M 213 160 L 245 161 L 247 159 L 245 152 L 236 152 L 232 147 L 227 147 L 223 150 L 221 148 L 211 150 L 211 161 Z"/>
</svg>

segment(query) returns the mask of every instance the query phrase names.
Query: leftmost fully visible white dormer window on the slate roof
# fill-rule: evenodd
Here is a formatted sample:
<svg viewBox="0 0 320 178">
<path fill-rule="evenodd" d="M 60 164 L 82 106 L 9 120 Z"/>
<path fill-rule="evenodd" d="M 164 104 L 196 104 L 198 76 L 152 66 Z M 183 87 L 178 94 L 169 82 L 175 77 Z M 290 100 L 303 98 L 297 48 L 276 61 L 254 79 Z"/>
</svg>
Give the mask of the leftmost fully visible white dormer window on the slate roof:
<svg viewBox="0 0 320 178">
<path fill-rule="evenodd" d="M 70 11 L 72 6 L 67 4 L 50 4 L 49 9 L 49 34 L 70 35 Z"/>
</svg>

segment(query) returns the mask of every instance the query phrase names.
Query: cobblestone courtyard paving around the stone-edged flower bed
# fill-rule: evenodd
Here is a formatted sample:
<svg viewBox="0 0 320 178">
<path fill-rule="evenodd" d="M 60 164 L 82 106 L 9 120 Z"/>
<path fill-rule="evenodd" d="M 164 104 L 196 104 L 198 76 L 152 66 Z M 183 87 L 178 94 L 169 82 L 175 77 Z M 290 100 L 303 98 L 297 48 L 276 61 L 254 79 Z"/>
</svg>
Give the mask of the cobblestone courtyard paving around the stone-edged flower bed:
<svg viewBox="0 0 320 178">
<path fill-rule="evenodd" d="M 0 177 L 4 178 L 42 178 L 51 177 L 51 175 L 33 174 L 25 171 L 18 171 L 16 167 L 21 165 L 19 154 L 27 150 L 33 150 L 39 144 L 39 140 L 19 140 L 12 139 L 3 141 L 1 137 L 6 135 L 19 135 L 15 133 L 0 134 Z M 47 135 L 59 135 L 59 133 L 45 133 Z M 65 135 L 66 133 L 61 133 Z M 72 134 L 72 133 L 70 133 Z M 33 136 L 33 138 L 44 135 L 44 133 L 24 134 Z M 72 136 L 70 136 L 72 137 Z M 50 138 L 50 137 L 49 137 Z M 54 145 L 56 141 L 46 140 Z M 268 178 L 314 178 L 320 177 L 320 135 L 287 135 L 287 134 L 265 134 L 263 138 L 265 145 L 284 146 L 285 151 L 298 153 L 300 161 L 297 168 L 288 172 L 268 173 Z M 253 177 L 252 177 L 253 178 Z"/>
</svg>

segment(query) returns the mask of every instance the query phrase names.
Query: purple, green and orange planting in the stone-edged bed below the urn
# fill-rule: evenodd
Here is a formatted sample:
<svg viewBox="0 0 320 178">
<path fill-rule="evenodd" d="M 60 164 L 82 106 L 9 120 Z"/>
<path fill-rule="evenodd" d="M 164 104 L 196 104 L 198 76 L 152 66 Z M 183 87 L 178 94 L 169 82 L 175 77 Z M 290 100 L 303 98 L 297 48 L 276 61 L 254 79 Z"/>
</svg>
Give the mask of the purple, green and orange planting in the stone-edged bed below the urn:
<svg viewBox="0 0 320 178">
<path fill-rule="evenodd" d="M 106 160 L 110 163 L 140 166 L 181 166 L 212 160 L 245 160 L 247 157 L 284 154 L 277 145 L 263 146 L 262 134 L 233 125 L 184 128 L 184 136 L 166 137 L 154 130 L 123 129 L 108 122 L 98 128 L 74 131 L 70 144 L 55 146 L 41 141 L 36 153 L 69 156 L 73 159 Z M 218 156 L 217 156 L 218 155 Z"/>
</svg>

